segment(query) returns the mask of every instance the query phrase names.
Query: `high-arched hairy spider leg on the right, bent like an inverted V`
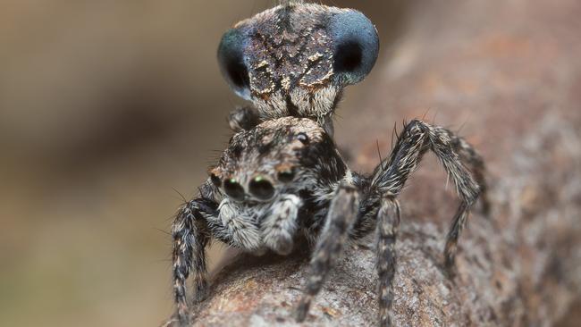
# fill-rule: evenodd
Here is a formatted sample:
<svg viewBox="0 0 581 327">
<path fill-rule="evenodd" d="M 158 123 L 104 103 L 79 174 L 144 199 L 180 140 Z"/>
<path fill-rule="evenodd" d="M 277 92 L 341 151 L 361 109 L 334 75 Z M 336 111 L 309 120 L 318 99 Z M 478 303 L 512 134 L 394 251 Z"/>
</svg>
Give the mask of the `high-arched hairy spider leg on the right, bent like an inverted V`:
<svg viewBox="0 0 581 327">
<path fill-rule="evenodd" d="M 453 135 L 450 130 L 441 127 L 417 120 L 409 122 L 398 137 L 392 155 L 375 168 L 372 177 L 372 188 L 376 188 L 380 194 L 397 196 L 425 151 L 431 149 L 434 152 L 448 176 L 454 181 L 461 200 L 446 240 L 444 256 L 448 268 L 454 263 L 459 234 L 467 221 L 469 209 L 476 202 L 480 192 L 476 180 L 454 151 L 450 135 Z"/>
</svg>

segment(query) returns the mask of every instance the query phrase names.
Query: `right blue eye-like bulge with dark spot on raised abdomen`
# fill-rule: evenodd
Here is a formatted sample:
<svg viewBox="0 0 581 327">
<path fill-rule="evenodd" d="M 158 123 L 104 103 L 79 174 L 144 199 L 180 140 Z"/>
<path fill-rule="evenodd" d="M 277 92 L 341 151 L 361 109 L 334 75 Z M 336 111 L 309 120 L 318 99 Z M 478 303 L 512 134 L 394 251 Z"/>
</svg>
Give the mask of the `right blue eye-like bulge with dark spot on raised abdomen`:
<svg viewBox="0 0 581 327">
<path fill-rule="evenodd" d="M 349 11 L 333 16 L 329 31 L 335 43 L 333 71 L 346 84 L 363 80 L 374 67 L 379 52 L 373 23 L 363 13 Z"/>
</svg>

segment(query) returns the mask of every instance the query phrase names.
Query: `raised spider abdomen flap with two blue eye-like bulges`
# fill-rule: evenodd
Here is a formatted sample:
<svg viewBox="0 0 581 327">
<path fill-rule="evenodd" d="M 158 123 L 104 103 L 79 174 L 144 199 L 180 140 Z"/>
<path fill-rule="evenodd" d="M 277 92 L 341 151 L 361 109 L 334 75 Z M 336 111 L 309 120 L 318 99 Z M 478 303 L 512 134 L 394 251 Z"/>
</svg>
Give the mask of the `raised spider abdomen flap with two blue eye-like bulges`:
<svg viewBox="0 0 581 327">
<path fill-rule="evenodd" d="M 365 78 L 378 50 L 363 13 L 290 3 L 228 30 L 218 62 L 232 89 L 263 116 L 314 118 L 331 113 L 342 88 Z"/>
</svg>

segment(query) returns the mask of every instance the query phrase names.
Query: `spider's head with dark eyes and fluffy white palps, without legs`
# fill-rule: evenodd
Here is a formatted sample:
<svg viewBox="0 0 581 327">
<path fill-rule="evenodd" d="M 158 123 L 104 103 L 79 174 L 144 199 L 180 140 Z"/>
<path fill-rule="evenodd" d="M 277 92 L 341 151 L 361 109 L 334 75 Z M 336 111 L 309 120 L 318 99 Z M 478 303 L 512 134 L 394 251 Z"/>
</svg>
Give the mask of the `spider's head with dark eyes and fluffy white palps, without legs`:
<svg viewBox="0 0 581 327">
<path fill-rule="evenodd" d="M 316 214 L 312 200 L 332 192 L 346 169 L 332 138 L 308 119 L 286 117 L 239 132 L 210 171 L 220 219 L 231 230 L 222 240 L 289 254 L 299 215 Z"/>
</svg>

